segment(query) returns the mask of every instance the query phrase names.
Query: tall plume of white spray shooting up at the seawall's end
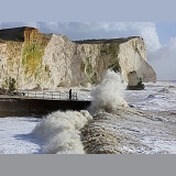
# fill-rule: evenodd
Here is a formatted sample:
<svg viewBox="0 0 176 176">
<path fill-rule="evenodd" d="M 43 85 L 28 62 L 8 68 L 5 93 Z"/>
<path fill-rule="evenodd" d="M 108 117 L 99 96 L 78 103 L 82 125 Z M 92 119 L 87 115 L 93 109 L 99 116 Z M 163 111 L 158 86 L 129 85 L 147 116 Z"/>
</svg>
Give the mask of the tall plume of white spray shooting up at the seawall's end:
<svg viewBox="0 0 176 176">
<path fill-rule="evenodd" d="M 102 81 L 91 92 L 92 102 L 89 111 L 108 111 L 128 107 L 121 90 L 125 85 L 122 82 L 121 75 L 112 70 L 107 70 Z"/>
</svg>

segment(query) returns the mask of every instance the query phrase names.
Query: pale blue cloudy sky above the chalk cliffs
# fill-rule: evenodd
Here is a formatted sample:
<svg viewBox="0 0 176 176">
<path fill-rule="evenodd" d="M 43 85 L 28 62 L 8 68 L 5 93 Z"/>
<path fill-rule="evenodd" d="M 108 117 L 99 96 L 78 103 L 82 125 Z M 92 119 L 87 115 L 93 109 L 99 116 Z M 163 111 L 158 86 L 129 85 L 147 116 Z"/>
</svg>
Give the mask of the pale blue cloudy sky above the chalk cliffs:
<svg viewBox="0 0 176 176">
<path fill-rule="evenodd" d="M 70 40 L 141 36 L 157 80 L 176 80 L 176 23 L 172 22 L 0 22 L 0 29 L 34 26 Z"/>
</svg>

